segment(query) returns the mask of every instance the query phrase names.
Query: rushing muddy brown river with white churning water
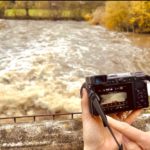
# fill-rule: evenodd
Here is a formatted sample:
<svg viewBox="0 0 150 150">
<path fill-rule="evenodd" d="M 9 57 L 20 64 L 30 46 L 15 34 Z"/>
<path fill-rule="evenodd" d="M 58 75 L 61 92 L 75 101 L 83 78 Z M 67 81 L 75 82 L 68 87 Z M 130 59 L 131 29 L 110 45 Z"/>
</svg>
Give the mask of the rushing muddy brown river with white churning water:
<svg viewBox="0 0 150 150">
<path fill-rule="evenodd" d="M 1 20 L 0 115 L 80 111 L 85 76 L 150 74 L 150 36 L 75 21 Z"/>
</svg>

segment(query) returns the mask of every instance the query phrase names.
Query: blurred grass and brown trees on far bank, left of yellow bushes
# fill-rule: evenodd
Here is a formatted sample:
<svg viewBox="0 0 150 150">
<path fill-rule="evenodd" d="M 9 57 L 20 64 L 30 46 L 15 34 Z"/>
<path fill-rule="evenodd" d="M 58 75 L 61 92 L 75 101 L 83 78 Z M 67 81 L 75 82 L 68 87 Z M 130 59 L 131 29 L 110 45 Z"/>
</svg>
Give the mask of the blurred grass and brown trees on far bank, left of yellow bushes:
<svg viewBox="0 0 150 150">
<path fill-rule="evenodd" d="M 93 3 L 92 1 L 0 1 L 0 15 L 16 18 L 20 9 L 24 9 L 26 15 L 25 12 L 20 12 L 22 18 L 83 20 L 88 18 L 87 14 L 90 14 L 93 9 L 103 4 L 104 2 Z"/>
</svg>

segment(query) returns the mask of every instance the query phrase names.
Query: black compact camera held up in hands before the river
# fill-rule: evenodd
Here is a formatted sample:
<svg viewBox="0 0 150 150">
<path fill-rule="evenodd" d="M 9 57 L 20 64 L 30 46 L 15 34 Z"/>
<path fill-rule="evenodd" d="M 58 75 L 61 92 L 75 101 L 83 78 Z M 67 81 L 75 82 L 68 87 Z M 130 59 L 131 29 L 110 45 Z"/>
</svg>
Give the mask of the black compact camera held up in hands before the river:
<svg viewBox="0 0 150 150">
<path fill-rule="evenodd" d="M 143 72 L 97 75 L 86 77 L 88 93 L 94 92 L 104 113 L 117 113 L 149 106 L 146 81 L 150 80 Z M 92 99 L 90 111 L 98 115 Z"/>
</svg>

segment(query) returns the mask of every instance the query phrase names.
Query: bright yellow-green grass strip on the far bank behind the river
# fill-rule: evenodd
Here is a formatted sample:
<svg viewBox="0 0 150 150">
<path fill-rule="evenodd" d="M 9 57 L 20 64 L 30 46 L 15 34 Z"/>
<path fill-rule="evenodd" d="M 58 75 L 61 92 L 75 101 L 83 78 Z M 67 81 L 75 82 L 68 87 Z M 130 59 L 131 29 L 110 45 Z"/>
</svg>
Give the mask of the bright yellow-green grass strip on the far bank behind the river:
<svg viewBox="0 0 150 150">
<path fill-rule="evenodd" d="M 32 19 L 74 19 L 83 20 L 88 11 L 81 9 L 29 9 L 28 15 Z M 26 9 L 6 9 L 6 18 L 27 18 Z"/>
</svg>

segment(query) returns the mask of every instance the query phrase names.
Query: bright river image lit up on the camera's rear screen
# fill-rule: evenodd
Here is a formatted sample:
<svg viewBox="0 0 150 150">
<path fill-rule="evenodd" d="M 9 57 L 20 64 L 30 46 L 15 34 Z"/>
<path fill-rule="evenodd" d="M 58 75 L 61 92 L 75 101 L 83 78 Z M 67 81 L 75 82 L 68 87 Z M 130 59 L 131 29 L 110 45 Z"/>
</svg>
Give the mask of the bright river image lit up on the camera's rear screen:
<svg viewBox="0 0 150 150">
<path fill-rule="evenodd" d="M 114 102 L 124 102 L 127 99 L 126 92 L 103 94 L 101 97 L 101 104 L 109 104 Z"/>
</svg>

